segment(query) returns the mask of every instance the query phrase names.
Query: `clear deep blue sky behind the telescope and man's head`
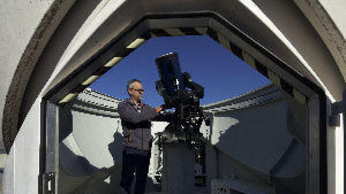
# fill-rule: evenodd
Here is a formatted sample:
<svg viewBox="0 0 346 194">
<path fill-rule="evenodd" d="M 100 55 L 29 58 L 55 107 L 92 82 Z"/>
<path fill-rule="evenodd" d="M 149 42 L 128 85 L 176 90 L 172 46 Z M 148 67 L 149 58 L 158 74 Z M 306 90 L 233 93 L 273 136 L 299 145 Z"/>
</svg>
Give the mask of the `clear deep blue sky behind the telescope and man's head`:
<svg viewBox="0 0 346 194">
<path fill-rule="evenodd" d="M 164 101 L 155 89 L 155 81 L 160 78 L 155 59 L 169 52 L 177 52 L 182 72 L 189 72 L 192 81 L 204 87 L 201 105 L 238 96 L 271 83 L 251 66 L 204 35 L 152 38 L 89 88 L 125 99 L 129 98 L 126 92 L 127 81 L 139 79 L 145 90 L 142 101 L 157 107 Z"/>
</svg>

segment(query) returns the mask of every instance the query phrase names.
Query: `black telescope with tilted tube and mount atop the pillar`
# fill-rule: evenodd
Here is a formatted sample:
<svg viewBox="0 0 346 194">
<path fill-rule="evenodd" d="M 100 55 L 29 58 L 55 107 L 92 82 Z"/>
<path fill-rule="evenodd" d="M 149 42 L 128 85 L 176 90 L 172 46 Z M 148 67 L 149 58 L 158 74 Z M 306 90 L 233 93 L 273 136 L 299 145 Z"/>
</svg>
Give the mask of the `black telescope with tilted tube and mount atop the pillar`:
<svg viewBox="0 0 346 194">
<path fill-rule="evenodd" d="M 173 122 L 165 130 L 177 136 L 184 135 L 188 139 L 186 143 L 195 142 L 194 137 L 201 136 L 202 120 L 206 120 L 200 108 L 204 88 L 193 82 L 188 72 L 181 72 L 176 52 L 160 56 L 155 62 L 160 75 L 160 80 L 155 82 L 156 90 L 165 102 L 162 107 L 175 108 L 171 114 Z"/>
</svg>

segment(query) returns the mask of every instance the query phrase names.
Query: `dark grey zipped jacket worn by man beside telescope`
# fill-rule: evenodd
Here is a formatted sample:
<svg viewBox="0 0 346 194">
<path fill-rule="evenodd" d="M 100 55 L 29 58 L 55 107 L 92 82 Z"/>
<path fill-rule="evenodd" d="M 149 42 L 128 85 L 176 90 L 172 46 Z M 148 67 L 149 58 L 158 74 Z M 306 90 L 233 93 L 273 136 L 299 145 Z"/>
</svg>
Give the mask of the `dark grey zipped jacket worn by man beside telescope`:
<svg viewBox="0 0 346 194">
<path fill-rule="evenodd" d="M 139 113 L 130 99 L 118 104 L 125 146 L 148 151 L 153 142 L 151 121 L 166 121 L 155 108 L 144 104 Z"/>
</svg>

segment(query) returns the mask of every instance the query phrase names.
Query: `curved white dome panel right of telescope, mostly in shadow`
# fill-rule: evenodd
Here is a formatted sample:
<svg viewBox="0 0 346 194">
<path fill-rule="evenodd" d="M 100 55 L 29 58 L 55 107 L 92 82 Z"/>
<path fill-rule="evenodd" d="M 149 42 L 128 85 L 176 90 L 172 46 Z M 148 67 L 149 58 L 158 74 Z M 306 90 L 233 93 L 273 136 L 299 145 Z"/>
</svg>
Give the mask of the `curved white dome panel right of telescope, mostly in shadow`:
<svg viewBox="0 0 346 194">
<path fill-rule="evenodd" d="M 286 108 L 285 101 L 277 101 L 218 114 L 213 118 L 212 144 L 257 171 L 268 173 L 293 137 L 287 130 Z"/>
</svg>

